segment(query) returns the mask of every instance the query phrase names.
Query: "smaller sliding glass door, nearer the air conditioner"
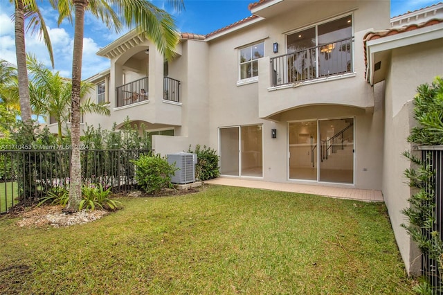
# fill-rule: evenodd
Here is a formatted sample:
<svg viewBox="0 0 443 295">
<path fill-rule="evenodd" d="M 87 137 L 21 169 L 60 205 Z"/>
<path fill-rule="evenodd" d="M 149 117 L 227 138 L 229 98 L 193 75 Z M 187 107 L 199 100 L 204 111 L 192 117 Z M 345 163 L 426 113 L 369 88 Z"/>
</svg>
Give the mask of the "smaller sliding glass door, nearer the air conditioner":
<svg viewBox="0 0 443 295">
<path fill-rule="evenodd" d="M 262 133 L 262 125 L 220 128 L 220 174 L 262 177 Z"/>
</svg>

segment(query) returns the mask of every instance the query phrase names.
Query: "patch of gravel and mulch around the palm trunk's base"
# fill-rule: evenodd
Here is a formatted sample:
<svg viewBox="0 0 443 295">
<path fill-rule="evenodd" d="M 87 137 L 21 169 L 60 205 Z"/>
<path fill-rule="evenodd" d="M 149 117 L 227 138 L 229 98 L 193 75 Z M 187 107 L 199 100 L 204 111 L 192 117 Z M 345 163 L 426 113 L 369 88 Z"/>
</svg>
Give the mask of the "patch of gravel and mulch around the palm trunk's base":
<svg viewBox="0 0 443 295">
<path fill-rule="evenodd" d="M 30 208 L 19 213 L 21 220 L 17 222 L 20 227 L 41 227 L 41 226 L 71 226 L 73 224 L 85 224 L 93 222 L 107 215 L 104 210 L 87 211 L 82 210 L 73 214 L 63 213 L 64 206 L 41 206 Z"/>
</svg>

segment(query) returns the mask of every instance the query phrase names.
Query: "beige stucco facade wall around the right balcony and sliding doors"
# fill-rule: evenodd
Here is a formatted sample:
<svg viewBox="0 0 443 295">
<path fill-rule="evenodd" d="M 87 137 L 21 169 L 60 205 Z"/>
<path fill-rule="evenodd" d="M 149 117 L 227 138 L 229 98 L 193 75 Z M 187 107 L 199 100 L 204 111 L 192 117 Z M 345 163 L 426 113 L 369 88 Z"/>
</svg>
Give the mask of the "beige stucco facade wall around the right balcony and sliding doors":
<svg viewBox="0 0 443 295">
<path fill-rule="evenodd" d="M 271 86 L 269 57 L 286 52 L 286 33 L 347 14 L 354 15 L 355 74 L 352 78 L 268 91 Z M 262 125 L 262 179 L 285 182 L 288 181 L 289 121 L 355 117 L 356 181 L 353 187 L 381 189 L 382 96 L 380 91 L 375 93 L 365 82 L 362 39 L 366 31 L 388 26 L 389 1 L 334 1 L 334 6 L 309 2 L 304 7 L 211 40 L 210 145 L 218 148 L 219 127 Z M 237 86 L 238 48 L 260 40 L 264 41 L 266 57 L 259 61 L 259 79 L 251 84 Z M 274 42 L 279 44 L 279 53 L 272 52 Z M 272 120 L 264 119 L 271 114 L 278 115 L 273 116 Z M 271 138 L 271 129 L 277 129 L 277 138 Z"/>
</svg>

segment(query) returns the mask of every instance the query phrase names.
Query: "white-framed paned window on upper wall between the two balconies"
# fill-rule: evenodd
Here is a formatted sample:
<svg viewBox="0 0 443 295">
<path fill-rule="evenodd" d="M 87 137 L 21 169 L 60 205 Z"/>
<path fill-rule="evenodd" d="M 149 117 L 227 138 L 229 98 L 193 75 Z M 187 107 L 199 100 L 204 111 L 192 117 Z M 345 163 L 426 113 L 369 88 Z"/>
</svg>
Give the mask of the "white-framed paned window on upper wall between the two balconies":
<svg viewBox="0 0 443 295">
<path fill-rule="evenodd" d="M 258 59 L 261 57 L 264 57 L 264 42 L 240 48 L 240 80 L 258 76 Z"/>
</svg>

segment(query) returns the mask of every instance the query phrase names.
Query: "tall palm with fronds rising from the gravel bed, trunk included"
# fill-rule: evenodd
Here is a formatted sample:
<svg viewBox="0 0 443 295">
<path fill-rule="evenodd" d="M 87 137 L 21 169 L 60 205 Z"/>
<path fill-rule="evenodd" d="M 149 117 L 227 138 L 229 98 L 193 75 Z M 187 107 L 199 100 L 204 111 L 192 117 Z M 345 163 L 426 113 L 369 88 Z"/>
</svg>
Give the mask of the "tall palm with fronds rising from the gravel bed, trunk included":
<svg viewBox="0 0 443 295">
<path fill-rule="evenodd" d="M 183 8 L 183 0 L 169 1 L 176 10 Z M 59 24 L 65 18 L 71 19 L 72 8 L 75 10 L 74 46 L 72 63 L 72 102 L 71 102 L 71 184 L 69 203 L 66 212 L 78 211 L 81 200 L 80 167 L 80 88 L 82 73 L 82 52 L 84 36 L 84 12 L 87 10 L 100 18 L 108 28 L 114 27 L 119 32 L 123 25 L 136 28 L 145 34 L 159 51 L 170 58 L 179 42 L 172 16 L 157 8 L 148 0 L 51 0 L 60 13 Z M 118 13 L 116 13 L 116 11 Z"/>
</svg>

